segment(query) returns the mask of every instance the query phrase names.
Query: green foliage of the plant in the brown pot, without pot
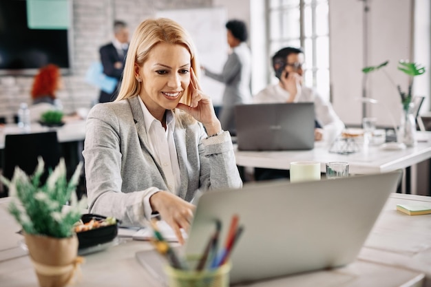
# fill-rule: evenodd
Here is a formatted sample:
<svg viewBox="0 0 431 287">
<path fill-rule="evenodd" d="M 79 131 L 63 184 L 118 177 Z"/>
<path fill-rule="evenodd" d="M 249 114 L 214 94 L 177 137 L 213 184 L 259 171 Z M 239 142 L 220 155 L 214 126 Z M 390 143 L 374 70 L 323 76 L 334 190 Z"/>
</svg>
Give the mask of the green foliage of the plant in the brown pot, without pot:
<svg viewBox="0 0 431 287">
<path fill-rule="evenodd" d="M 12 198 L 9 212 L 28 234 L 63 238 L 73 234 L 73 226 L 86 208 L 86 198 L 78 201 L 75 193 L 82 162 L 78 164 L 70 182 L 67 183 L 65 161 L 61 158 L 54 171 L 41 186 L 45 164 L 41 157 L 34 174 L 28 176 L 15 168 L 12 180 L 0 176 Z M 65 204 L 70 200 L 70 206 Z"/>
</svg>

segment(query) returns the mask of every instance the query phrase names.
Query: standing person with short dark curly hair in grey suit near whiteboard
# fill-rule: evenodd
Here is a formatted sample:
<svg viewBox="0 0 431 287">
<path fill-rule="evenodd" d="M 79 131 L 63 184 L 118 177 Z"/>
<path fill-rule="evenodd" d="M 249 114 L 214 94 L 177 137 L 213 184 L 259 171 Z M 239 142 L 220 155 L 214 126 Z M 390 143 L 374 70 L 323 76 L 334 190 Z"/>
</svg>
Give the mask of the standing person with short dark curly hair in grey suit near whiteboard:
<svg viewBox="0 0 431 287">
<path fill-rule="evenodd" d="M 226 63 L 220 74 L 201 67 L 204 74 L 216 81 L 224 83 L 220 123 L 224 130 L 236 134 L 234 107 L 238 104 L 251 102 L 251 52 L 246 44 L 248 32 L 246 24 L 240 20 L 226 23 L 227 43 L 231 48 Z"/>
</svg>

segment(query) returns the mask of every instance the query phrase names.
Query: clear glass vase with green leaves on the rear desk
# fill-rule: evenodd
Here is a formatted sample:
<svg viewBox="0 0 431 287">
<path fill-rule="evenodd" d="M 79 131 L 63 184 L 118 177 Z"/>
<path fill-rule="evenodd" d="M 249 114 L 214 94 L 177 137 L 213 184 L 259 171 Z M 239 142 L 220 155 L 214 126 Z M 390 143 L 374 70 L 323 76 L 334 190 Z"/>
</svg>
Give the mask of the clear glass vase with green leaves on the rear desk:
<svg viewBox="0 0 431 287">
<path fill-rule="evenodd" d="M 362 72 L 364 72 L 364 74 L 368 74 L 370 72 L 380 70 L 381 68 L 386 67 L 388 63 L 389 61 L 385 61 L 376 66 L 364 67 L 364 69 L 362 69 Z M 421 74 L 424 74 L 425 67 L 417 63 L 400 60 L 398 62 L 397 69 L 409 76 L 409 83 L 406 91 L 403 91 L 400 85 L 396 85 L 385 70 L 383 70 L 383 72 L 388 77 L 390 83 L 392 83 L 392 85 L 397 87 L 398 94 L 401 98 L 401 105 L 403 107 L 403 116 L 401 117 L 401 125 L 399 127 L 399 131 L 398 132 L 395 131 L 397 132 L 397 141 L 403 142 L 408 147 L 410 147 L 416 144 L 416 137 L 415 137 L 416 119 L 412 115 L 413 78 L 414 76 L 419 76 Z"/>
</svg>

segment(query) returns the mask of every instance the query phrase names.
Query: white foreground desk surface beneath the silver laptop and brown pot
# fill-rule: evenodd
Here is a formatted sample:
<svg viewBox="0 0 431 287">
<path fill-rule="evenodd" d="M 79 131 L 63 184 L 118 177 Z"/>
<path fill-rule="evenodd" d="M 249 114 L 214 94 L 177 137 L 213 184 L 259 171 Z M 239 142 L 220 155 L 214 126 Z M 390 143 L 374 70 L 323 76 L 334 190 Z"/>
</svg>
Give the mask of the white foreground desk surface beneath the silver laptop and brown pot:
<svg viewBox="0 0 431 287">
<path fill-rule="evenodd" d="M 422 200 L 423 197 L 418 196 L 408 195 L 403 201 Z M 396 219 L 399 217 L 399 214 L 395 213 L 396 211 L 392 212 L 392 206 L 395 206 L 397 200 L 399 200 L 398 194 L 390 195 L 385 210 L 379 217 L 377 228 L 382 229 L 383 234 L 386 228 L 388 230 L 397 230 L 399 224 Z M 30 259 L 26 255 L 26 252 L 19 247 L 19 242 L 23 237 L 16 232 L 19 231 L 20 226 L 7 211 L 8 201 L 8 198 L 0 199 L 0 228 L 2 230 L 0 240 L 0 286 L 36 287 L 38 286 L 38 282 Z M 411 232 L 407 233 L 406 237 L 400 239 L 402 240 L 400 242 L 401 246 L 404 240 L 414 240 L 417 238 L 422 240 L 426 237 L 422 235 L 429 235 L 431 220 L 423 220 L 422 216 L 406 215 L 406 217 L 402 217 L 403 222 L 399 226 L 401 229 L 399 232 L 402 233 L 404 224 L 410 226 Z M 375 240 L 375 237 L 378 240 L 380 232 L 373 229 L 367 242 L 372 242 Z M 428 242 L 421 242 L 421 244 L 429 243 L 430 240 Z M 140 266 L 135 259 L 137 251 L 149 248 L 153 248 L 149 242 L 120 238 L 120 244 L 117 246 L 112 246 L 106 251 L 86 255 L 85 263 L 81 265 L 81 280 L 72 286 L 159 287 L 160 283 L 151 277 L 145 268 Z M 391 252 L 395 254 L 399 253 L 397 250 Z M 379 255 L 368 255 L 368 247 L 365 247 L 359 259 L 343 268 L 280 277 L 244 286 L 423 286 L 423 273 L 427 272 L 428 281 L 431 280 L 429 272 L 431 270 L 431 262 L 430 260 L 426 262 L 425 258 L 421 259 L 422 254 L 427 255 L 429 253 L 419 251 L 419 256 L 411 258 L 410 262 L 406 262 L 409 266 L 410 264 L 421 265 L 419 270 L 419 268 L 408 267 L 406 264 L 392 265 L 390 262 L 384 262 L 384 255 L 381 258 Z"/>
</svg>

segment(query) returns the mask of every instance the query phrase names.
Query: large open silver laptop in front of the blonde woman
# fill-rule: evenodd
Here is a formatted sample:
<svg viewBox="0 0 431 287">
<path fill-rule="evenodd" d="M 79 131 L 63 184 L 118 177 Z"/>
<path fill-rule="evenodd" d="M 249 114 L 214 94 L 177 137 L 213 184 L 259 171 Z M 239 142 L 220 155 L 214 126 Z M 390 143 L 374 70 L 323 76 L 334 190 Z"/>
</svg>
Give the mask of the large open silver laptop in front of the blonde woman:
<svg viewBox="0 0 431 287">
<path fill-rule="evenodd" d="M 231 216 L 244 226 L 231 257 L 231 283 L 267 279 L 353 262 L 401 172 L 337 180 L 245 184 L 199 198 L 182 251 L 201 254 L 216 218 L 225 238 Z M 150 273 L 164 277 L 155 251 L 136 253 Z M 158 258 L 158 259 L 155 259 Z"/>
</svg>

